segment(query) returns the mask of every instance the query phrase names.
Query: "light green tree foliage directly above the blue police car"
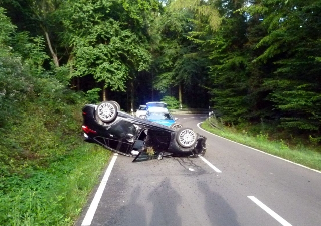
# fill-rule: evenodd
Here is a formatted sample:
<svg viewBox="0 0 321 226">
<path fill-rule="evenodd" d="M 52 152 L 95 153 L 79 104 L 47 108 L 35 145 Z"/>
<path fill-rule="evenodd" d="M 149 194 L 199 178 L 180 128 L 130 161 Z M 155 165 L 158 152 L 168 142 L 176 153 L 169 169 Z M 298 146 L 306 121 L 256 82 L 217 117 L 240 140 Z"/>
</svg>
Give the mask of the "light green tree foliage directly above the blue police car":
<svg viewBox="0 0 321 226">
<path fill-rule="evenodd" d="M 208 82 L 208 59 L 199 54 L 200 44 L 193 43 L 189 36 L 195 27 L 193 17 L 191 12 L 184 10 L 167 10 L 156 17 L 150 29 L 155 46 L 152 50 L 152 68 L 156 74 L 153 88 L 165 95 L 178 97 L 178 87 L 181 85 L 184 87 L 181 93 L 183 102 L 191 105 L 195 97 L 203 97 L 195 89 L 203 90 L 202 86 Z M 199 102 L 198 99 L 195 102 Z"/>
</svg>

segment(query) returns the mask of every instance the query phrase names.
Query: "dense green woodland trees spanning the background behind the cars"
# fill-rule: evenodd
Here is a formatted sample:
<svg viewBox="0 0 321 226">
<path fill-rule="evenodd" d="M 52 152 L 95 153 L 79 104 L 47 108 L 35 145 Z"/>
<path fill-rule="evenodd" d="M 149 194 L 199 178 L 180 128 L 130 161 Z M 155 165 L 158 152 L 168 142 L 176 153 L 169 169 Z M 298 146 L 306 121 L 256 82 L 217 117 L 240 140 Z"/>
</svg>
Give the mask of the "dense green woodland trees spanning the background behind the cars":
<svg viewBox="0 0 321 226">
<path fill-rule="evenodd" d="M 2 54 L 32 61 L 34 76 L 47 74 L 93 100 L 116 100 L 125 111 L 175 97 L 185 107 L 214 107 L 233 125 L 263 122 L 320 140 L 320 1 L 1 6 Z M 1 101 L 19 88 L 2 81 Z"/>
</svg>

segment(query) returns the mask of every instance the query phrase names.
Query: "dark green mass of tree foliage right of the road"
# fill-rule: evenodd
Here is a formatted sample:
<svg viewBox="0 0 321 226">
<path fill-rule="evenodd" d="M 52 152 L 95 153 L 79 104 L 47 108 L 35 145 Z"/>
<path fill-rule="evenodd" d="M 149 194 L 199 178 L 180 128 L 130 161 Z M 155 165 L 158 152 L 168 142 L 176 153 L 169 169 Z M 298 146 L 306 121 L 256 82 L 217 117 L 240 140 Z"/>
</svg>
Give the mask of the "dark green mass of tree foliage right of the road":
<svg viewBox="0 0 321 226">
<path fill-rule="evenodd" d="M 264 119 L 319 137 L 320 3 L 263 0 L 237 9 L 223 2 L 221 29 L 203 45 L 212 51 L 215 108 L 235 124 Z"/>
</svg>

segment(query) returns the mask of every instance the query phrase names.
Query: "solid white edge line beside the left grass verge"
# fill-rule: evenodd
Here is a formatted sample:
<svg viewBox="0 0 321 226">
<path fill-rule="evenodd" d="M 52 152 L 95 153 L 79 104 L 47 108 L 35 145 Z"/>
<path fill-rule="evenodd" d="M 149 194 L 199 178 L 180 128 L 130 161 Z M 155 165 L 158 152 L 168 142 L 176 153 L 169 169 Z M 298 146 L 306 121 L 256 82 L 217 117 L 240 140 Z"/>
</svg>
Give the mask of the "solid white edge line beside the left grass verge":
<svg viewBox="0 0 321 226">
<path fill-rule="evenodd" d="M 94 215 L 95 215 L 95 212 L 96 212 L 96 209 L 98 207 L 98 204 L 99 204 L 99 201 L 100 201 L 100 198 L 102 196 L 102 193 L 104 192 L 104 189 L 106 187 L 106 183 L 108 181 L 108 178 L 109 178 L 109 175 L 111 173 L 111 170 L 116 162 L 116 159 L 117 159 L 117 156 L 118 154 L 115 153 L 115 155 L 112 157 L 108 167 L 107 167 L 107 170 L 105 172 L 105 175 L 104 177 L 102 178 L 101 182 L 100 182 L 100 185 L 98 187 L 98 190 L 95 194 L 95 197 L 94 199 L 92 200 L 90 206 L 89 206 L 89 209 L 86 213 L 86 216 L 84 218 L 84 220 L 82 221 L 82 224 L 81 226 L 90 226 L 91 224 L 91 221 L 92 219 L 94 218 Z"/>
</svg>

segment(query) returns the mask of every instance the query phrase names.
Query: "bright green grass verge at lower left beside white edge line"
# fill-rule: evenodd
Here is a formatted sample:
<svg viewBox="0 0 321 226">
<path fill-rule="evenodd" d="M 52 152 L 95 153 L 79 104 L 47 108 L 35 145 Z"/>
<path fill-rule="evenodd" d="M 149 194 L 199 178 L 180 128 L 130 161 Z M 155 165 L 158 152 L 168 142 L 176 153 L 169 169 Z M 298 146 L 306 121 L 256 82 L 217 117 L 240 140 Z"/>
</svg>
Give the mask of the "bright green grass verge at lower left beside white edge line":
<svg viewBox="0 0 321 226">
<path fill-rule="evenodd" d="M 0 198 L 0 225 L 72 225 L 97 184 L 110 152 L 92 144 L 79 146 L 28 178 L 8 177 Z"/>
</svg>

